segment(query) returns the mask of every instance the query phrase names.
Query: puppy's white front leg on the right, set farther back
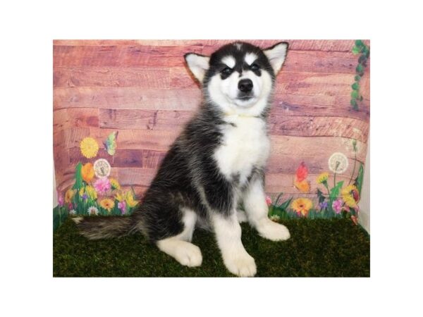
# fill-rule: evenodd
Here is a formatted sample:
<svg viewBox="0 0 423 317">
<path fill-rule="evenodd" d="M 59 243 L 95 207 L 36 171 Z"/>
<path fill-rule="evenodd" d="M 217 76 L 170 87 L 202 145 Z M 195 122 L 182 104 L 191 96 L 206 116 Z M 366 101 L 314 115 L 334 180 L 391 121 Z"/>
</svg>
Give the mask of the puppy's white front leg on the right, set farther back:
<svg viewBox="0 0 423 317">
<path fill-rule="evenodd" d="M 248 221 L 256 228 L 259 235 L 272 241 L 289 239 L 288 229 L 284 225 L 274 223 L 267 216 L 269 209 L 266 205 L 266 194 L 260 180 L 252 181 L 245 191 L 243 202 Z"/>
</svg>

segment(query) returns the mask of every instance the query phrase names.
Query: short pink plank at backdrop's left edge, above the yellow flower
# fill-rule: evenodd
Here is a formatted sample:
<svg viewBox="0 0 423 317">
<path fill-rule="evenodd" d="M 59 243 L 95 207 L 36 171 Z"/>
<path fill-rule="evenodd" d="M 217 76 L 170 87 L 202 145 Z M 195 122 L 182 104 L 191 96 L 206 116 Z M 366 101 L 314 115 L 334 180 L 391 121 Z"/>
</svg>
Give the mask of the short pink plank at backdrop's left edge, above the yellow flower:
<svg viewBox="0 0 423 317">
<path fill-rule="evenodd" d="M 54 132 L 74 127 L 98 128 L 98 108 L 63 108 L 53 112 Z"/>
</svg>

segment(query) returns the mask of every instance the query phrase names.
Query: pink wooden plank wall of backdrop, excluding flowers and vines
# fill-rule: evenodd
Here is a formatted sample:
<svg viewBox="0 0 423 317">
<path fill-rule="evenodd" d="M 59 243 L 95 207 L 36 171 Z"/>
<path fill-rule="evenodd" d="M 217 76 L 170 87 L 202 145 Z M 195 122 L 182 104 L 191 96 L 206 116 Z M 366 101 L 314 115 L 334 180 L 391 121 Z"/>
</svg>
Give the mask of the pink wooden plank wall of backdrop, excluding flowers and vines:
<svg viewBox="0 0 423 317">
<path fill-rule="evenodd" d="M 249 40 L 267 47 L 281 40 Z M 266 191 L 284 196 L 315 197 L 316 178 L 329 171 L 333 152 L 350 165 L 337 180 L 353 172 L 353 139 L 357 162 L 364 163 L 369 135 L 369 62 L 360 81 L 364 97 L 359 111 L 350 106 L 357 56 L 353 40 L 286 40 L 286 62 L 277 77 L 269 118 L 271 157 Z M 75 164 L 85 163 L 82 138 L 102 144 L 119 131 L 112 159 L 104 149 L 111 175 L 142 195 L 169 145 L 200 103 L 200 88 L 185 66 L 187 52 L 211 54 L 231 40 L 55 40 L 54 165 L 57 187 L 73 183 Z M 366 42 L 369 44 L 369 42 Z M 311 191 L 293 187 L 295 170 L 304 161 Z M 357 174 L 358 168 L 355 168 Z M 354 175 L 355 177 L 355 175 Z M 323 189 L 323 188 L 321 188 Z"/>
</svg>

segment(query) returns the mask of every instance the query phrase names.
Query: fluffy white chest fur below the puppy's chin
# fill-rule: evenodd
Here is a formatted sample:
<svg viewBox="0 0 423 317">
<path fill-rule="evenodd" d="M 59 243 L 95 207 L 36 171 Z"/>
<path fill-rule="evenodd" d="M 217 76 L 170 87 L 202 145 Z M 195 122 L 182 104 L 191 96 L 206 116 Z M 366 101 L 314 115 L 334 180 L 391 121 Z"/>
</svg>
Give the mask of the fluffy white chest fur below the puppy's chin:
<svg viewBox="0 0 423 317">
<path fill-rule="evenodd" d="M 221 173 L 228 179 L 239 175 L 242 185 L 254 167 L 263 167 L 269 156 L 270 140 L 266 123 L 256 117 L 228 116 L 223 132 L 223 142 L 216 149 L 216 159 Z"/>
</svg>

